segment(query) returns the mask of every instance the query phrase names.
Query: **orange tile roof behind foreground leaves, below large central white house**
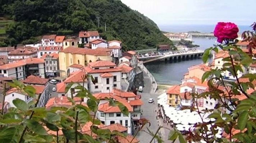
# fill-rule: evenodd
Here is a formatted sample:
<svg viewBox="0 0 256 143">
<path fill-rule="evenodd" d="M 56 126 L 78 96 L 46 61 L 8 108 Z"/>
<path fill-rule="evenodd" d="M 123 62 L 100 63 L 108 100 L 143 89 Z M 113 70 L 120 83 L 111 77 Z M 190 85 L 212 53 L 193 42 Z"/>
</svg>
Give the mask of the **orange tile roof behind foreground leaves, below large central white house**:
<svg viewBox="0 0 256 143">
<path fill-rule="evenodd" d="M 81 98 L 74 97 L 73 100 L 76 102 L 76 104 L 80 104 Z M 87 107 L 87 105 L 84 102 L 82 102 L 82 105 Z M 68 108 L 70 106 L 72 106 L 72 102 L 70 102 L 68 100 L 68 97 L 66 97 L 66 96 L 53 97 L 53 98 L 49 99 L 49 101 L 45 105 L 45 107 L 47 109 L 49 109 L 51 107 L 67 107 Z"/>
</svg>

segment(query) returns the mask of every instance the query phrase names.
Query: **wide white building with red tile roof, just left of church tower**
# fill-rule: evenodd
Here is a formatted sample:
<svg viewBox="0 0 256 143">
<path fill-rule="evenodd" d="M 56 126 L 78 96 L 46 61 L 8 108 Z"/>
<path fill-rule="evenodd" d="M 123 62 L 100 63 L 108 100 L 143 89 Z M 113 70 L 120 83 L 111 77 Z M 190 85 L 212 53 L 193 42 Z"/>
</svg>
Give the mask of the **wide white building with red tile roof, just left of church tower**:
<svg viewBox="0 0 256 143">
<path fill-rule="evenodd" d="M 44 54 L 58 54 L 61 50 L 63 50 L 63 46 L 41 46 L 38 48 L 37 58 L 42 58 Z"/>
</svg>

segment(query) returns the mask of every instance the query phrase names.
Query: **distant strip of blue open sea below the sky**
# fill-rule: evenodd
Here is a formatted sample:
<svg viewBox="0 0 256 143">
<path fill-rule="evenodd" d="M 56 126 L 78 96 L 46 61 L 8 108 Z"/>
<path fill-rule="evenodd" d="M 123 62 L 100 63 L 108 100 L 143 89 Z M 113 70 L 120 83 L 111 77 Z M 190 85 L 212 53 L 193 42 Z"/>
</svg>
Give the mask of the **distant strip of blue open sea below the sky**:
<svg viewBox="0 0 256 143">
<path fill-rule="evenodd" d="M 198 31 L 200 33 L 211 33 L 214 31 L 216 25 L 178 25 L 178 24 L 170 24 L 170 25 L 158 25 L 161 31 L 165 32 L 173 32 L 173 33 L 181 33 L 188 31 Z M 238 25 L 239 34 L 243 31 L 252 30 L 250 25 Z"/>
</svg>

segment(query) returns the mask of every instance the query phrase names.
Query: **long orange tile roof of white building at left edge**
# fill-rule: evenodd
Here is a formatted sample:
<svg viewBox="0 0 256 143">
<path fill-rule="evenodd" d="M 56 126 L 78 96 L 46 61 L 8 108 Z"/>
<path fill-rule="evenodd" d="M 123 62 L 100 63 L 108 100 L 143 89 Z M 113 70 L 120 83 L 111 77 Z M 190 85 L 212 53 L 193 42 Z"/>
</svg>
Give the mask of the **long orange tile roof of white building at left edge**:
<svg viewBox="0 0 256 143">
<path fill-rule="evenodd" d="M 26 64 L 43 64 L 43 63 L 45 63 L 44 59 L 28 58 L 24 60 L 18 60 L 10 64 L 0 65 L 0 69 L 11 69 L 11 68 L 17 68 L 19 66 L 23 66 Z"/>
</svg>

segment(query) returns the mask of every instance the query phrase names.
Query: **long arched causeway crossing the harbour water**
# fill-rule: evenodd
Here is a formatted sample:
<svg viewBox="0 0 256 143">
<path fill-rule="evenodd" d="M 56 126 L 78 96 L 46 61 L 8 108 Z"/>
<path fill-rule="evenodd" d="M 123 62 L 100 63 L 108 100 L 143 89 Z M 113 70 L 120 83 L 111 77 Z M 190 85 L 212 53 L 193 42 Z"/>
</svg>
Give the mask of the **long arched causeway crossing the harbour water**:
<svg viewBox="0 0 256 143">
<path fill-rule="evenodd" d="M 194 51 L 184 51 L 182 52 L 172 52 L 172 53 L 164 53 L 164 55 L 155 55 L 155 56 L 144 56 L 139 57 L 139 60 L 143 60 L 143 63 L 149 63 L 151 61 L 161 60 L 165 61 L 165 63 L 169 62 L 176 62 L 176 61 L 184 61 L 189 59 L 197 59 L 201 58 L 204 51 L 202 50 L 194 50 Z"/>
</svg>

